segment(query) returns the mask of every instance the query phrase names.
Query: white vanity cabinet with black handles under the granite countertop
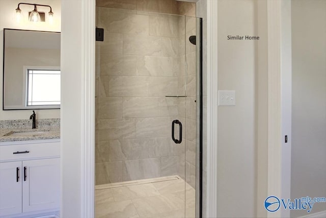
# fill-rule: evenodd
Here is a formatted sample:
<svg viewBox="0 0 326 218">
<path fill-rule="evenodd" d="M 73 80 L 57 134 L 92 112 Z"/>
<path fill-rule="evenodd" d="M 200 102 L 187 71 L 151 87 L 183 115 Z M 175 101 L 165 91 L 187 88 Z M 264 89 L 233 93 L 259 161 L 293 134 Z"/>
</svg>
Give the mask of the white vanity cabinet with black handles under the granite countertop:
<svg viewBox="0 0 326 218">
<path fill-rule="evenodd" d="M 0 217 L 59 211 L 60 142 L 37 142 L 0 146 Z"/>
</svg>

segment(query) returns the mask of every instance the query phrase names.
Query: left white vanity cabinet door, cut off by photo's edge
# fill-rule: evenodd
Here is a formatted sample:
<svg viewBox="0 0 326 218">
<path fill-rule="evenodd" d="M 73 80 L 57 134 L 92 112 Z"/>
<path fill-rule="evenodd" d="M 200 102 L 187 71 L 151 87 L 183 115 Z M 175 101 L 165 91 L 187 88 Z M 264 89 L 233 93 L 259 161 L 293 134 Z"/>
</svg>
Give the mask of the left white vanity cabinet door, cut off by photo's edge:
<svg viewBox="0 0 326 218">
<path fill-rule="evenodd" d="M 21 161 L 0 163 L 0 216 L 21 213 Z"/>
</svg>

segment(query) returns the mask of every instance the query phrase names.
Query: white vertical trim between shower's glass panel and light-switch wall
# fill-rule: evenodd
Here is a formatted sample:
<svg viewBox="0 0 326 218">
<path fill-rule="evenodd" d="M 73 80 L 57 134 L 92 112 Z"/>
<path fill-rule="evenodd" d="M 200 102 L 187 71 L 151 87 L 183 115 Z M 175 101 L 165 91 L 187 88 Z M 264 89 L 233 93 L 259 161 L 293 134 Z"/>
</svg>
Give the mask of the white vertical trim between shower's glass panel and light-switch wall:
<svg viewBox="0 0 326 218">
<path fill-rule="evenodd" d="M 218 217 L 218 1 L 207 1 L 206 217 Z M 205 161 L 205 160 L 204 160 Z M 205 189 L 204 189 L 205 190 Z M 205 205 L 204 205 L 205 206 Z"/>
</svg>

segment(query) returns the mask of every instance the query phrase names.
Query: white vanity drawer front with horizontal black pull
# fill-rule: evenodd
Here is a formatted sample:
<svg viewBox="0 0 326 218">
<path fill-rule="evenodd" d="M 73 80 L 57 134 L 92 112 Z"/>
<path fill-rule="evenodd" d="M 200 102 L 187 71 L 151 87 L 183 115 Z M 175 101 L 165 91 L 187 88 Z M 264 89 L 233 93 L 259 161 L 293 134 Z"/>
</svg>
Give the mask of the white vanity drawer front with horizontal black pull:
<svg viewBox="0 0 326 218">
<path fill-rule="evenodd" d="M 60 142 L 0 146 L 0 161 L 60 156 Z"/>
</svg>

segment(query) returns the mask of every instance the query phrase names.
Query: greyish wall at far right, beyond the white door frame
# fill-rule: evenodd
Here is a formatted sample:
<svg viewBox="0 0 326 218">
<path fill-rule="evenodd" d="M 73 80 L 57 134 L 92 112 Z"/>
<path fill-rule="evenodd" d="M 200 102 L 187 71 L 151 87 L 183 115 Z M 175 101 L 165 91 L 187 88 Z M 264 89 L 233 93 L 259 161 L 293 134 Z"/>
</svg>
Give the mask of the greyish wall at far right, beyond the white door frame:
<svg viewBox="0 0 326 218">
<path fill-rule="evenodd" d="M 292 1 L 291 199 L 326 196 L 326 1 Z M 315 203 L 311 213 L 326 210 Z M 307 215 L 292 210 L 291 216 Z"/>
</svg>

